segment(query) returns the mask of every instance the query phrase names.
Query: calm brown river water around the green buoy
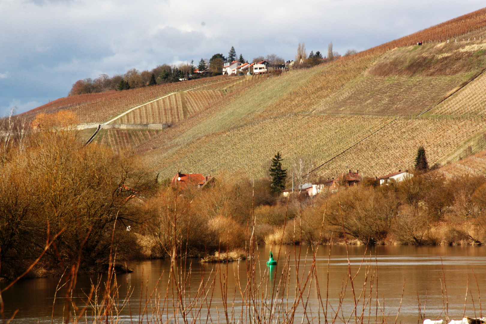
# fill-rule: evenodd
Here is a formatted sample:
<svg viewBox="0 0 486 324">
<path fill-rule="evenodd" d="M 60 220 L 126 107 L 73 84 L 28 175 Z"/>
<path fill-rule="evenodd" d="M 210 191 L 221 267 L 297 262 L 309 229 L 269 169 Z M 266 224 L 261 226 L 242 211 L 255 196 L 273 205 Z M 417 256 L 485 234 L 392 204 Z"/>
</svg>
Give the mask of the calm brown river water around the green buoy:
<svg viewBox="0 0 486 324">
<path fill-rule="evenodd" d="M 270 270 L 270 276 L 265 276 L 269 271 L 265 261 L 268 258 L 270 247 L 258 246 L 257 254 L 260 255 L 260 259 L 256 261 L 256 272 L 258 272 L 256 277 L 266 279 L 262 281 L 258 296 L 254 298 L 269 302 L 272 300 L 272 293 L 273 296 L 280 296 L 277 293 L 278 286 L 285 284 L 284 296 L 279 297 L 281 300 L 283 298 L 285 302 L 280 306 L 287 305 L 288 307 L 288 303 L 295 300 L 296 287 L 298 285 L 303 287 L 307 278 L 306 273 L 311 269 L 312 248 L 316 247 L 284 246 L 280 250 L 274 247 L 273 253 L 275 258 L 278 258 L 278 264 Z M 461 319 L 463 314 L 469 317 L 486 316 L 485 295 L 481 295 L 485 305 L 482 305 L 480 300 L 480 293 L 486 293 L 486 247 L 484 246 L 374 246 L 371 248 L 348 246 L 347 250 L 349 257 L 347 257 L 345 246 L 319 246 L 315 262 L 318 284 L 316 284 L 316 278 L 307 281 L 307 288 L 303 289 L 302 300 L 304 302 L 299 302 L 295 309 L 295 323 L 301 323 L 302 318 L 306 323 L 318 322 L 318 320 L 324 322 L 323 314 L 326 305 L 328 306 L 328 322 L 332 322 L 332 318 L 335 317 L 336 323 L 343 323 L 348 319 L 349 323 L 354 323 L 354 313 L 356 313 L 358 322 L 361 322 L 359 317 L 363 313 L 364 323 L 374 323 L 377 314 L 378 321 L 382 322 L 385 317 L 386 323 L 395 323 L 395 321 L 397 321 L 396 323 L 417 323 L 419 312 L 425 312 L 425 318 L 430 319 L 446 319 L 446 311 L 449 319 Z M 286 262 L 285 259 L 288 261 Z M 352 288 L 350 281 L 347 280 L 348 259 L 352 276 L 357 273 L 361 265 L 359 273 L 354 277 L 352 287 L 355 290 L 354 296 L 356 296 L 358 304 L 356 312 L 354 312 L 355 302 Z M 207 296 L 212 296 L 210 304 L 209 297 L 207 297 L 204 306 L 200 308 L 198 322 L 225 322 L 226 317 L 223 311 L 225 300 L 222 298 L 224 296 L 228 300 L 226 308 L 234 310 L 233 319 L 231 319 L 231 314 L 228 315 L 230 320 L 235 323 L 239 320 L 249 321 L 247 313 L 251 306 L 242 300 L 238 289 L 238 282 L 243 290 L 246 284 L 246 262 L 248 261 L 201 265 L 197 259 L 187 259 L 179 264 L 180 271 L 185 269 L 186 273 L 189 273 L 191 270 L 191 278 L 187 280 L 186 287 L 183 289 L 186 296 L 197 294 L 201 278 L 205 280 L 206 287 L 209 287 L 206 290 Z M 169 314 L 169 317 L 167 317 L 168 315 L 162 317 L 165 318 L 164 321 L 171 320 L 171 318 L 174 321 L 171 316 L 171 314 L 174 315 L 174 312 L 177 314 L 175 317 L 180 318 L 181 314 L 174 310 L 177 307 L 172 304 L 175 300 L 172 288 L 167 292 L 170 260 L 143 261 L 132 264 L 131 268 L 134 269 L 133 273 L 117 275 L 120 299 L 118 305 L 121 306 L 122 300 L 127 294 L 130 294 L 129 301 L 120 312 L 120 322 L 138 323 L 140 313 L 145 314 L 143 322 L 150 322 L 154 309 L 158 309 L 160 312 L 161 307 L 164 307 L 165 312 Z M 282 272 L 282 270 L 285 271 Z M 367 279 L 365 278 L 366 273 L 368 273 Z M 302 276 L 302 274 L 304 275 Z M 97 276 L 78 278 L 73 293 L 73 300 L 77 306 L 86 303 L 86 294 L 89 293 L 91 284 L 96 283 L 97 280 Z M 365 281 L 366 285 L 364 285 Z M 214 284 L 211 286 L 212 282 Z M 224 285 L 225 282 L 227 286 Z M 223 290 L 221 289 L 222 283 Z M 26 279 L 16 283 L 2 295 L 5 318 L 10 318 L 18 309 L 12 323 L 51 323 L 52 319 L 54 323 L 62 322 L 63 310 L 66 307 L 64 302 L 66 290 L 65 287 L 59 289 L 57 299 L 54 301 L 58 284 L 59 278 Z M 0 287 L 5 287 L 5 285 L 6 283 L 1 283 Z M 317 285 L 319 290 L 316 288 Z M 361 293 L 363 289 L 364 292 Z M 225 294 L 224 291 L 227 293 Z M 344 295 L 341 307 L 339 307 L 340 295 Z M 167 296 L 165 302 L 164 296 Z M 149 300 L 148 303 L 147 300 Z M 188 297 L 187 301 L 189 300 Z M 200 301 L 201 299 L 199 299 Z M 278 304 L 278 301 L 274 303 Z M 419 303 L 421 304 L 420 311 Z M 261 303 L 258 305 L 261 307 Z M 306 308 L 305 315 L 304 307 Z M 148 310 L 143 311 L 144 308 Z M 207 316 L 208 308 L 209 317 Z M 92 309 L 93 307 L 87 307 L 88 315 L 91 314 Z M 244 310 L 242 311 L 242 309 Z M 281 307 L 275 309 L 274 313 L 279 311 L 283 313 L 281 309 Z M 149 317 L 147 317 L 147 313 Z M 194 309 L 191 316 L 196 317 Z M 193 318 L 191 316 L 189 316 L 190 319 Z M 282 320 L 281 317 L 277 319 L 275 316 L 274 321 Z M 90 319 L 88 317 L 87 320 Z M 207 319 L 208 322 L 206 322 Z"/>
</svg>

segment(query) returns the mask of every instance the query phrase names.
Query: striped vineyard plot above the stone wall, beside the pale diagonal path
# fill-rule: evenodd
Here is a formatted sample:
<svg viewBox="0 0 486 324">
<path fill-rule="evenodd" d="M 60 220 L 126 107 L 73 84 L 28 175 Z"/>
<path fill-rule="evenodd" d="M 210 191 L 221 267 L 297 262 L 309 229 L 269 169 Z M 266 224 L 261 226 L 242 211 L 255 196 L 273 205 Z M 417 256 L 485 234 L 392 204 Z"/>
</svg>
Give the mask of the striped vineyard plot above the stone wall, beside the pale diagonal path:
<svg viewBox="0 0 486 324">
<path fill-rule="evenodd" d="M 111 124 L 174 124 L 225 96 L 223 90 L 176 92 L 149 102 L 114 120 Z"/>
</svg>

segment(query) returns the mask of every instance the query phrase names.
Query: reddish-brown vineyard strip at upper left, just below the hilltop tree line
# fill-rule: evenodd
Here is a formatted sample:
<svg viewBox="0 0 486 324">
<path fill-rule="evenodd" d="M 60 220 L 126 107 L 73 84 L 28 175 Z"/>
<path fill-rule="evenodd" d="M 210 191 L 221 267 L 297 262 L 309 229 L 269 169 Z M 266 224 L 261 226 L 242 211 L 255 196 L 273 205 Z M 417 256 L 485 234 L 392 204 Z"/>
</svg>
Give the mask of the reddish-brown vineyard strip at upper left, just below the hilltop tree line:
<svg viewBox="0 0 486 324">
<path fill-rule="evenodd" d="M 23 113 L 22 116 L 27 119 L 34 119 L 35 115 L 41 112 L 55 113 L 59 110 L 69 110 L 75 112 L 79 116 L 81 124 L 101 123 L 121 114 L 123 111 L 133 106 L 162 97 L 164 94 L 210 84 L 215 84 L 215 86 L 220 87 L 228 83 L 225 81 L 234 82 L 234 79 L 225 76 L 217 76 L 166 85 L 146 86 L 143 88 L 123 91 L 105 91 L 101 93 L 69 96 L 37 107 Z M 219 82 L 221 82 L 221 84 Z M 204 89 L 204 87 L 200 89 Z"/>
</svg>

